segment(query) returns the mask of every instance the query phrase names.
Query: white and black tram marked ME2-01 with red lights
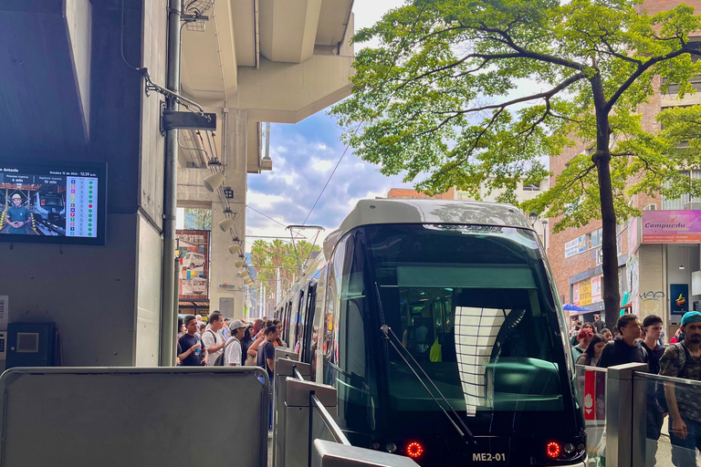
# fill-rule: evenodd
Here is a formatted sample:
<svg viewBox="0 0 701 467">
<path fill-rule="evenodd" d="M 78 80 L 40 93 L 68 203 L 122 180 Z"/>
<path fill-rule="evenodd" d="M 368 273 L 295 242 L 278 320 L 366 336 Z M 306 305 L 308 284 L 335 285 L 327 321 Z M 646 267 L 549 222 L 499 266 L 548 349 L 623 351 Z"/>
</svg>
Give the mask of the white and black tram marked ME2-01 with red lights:
<svg viewBox="0 0 701 467">
<path fill-rule="evenodd" d="M 363 200 L 276 317 L 354 445 L 426 467 L 585 465 L 564 315 L 513 206 Z"/>
</svg>

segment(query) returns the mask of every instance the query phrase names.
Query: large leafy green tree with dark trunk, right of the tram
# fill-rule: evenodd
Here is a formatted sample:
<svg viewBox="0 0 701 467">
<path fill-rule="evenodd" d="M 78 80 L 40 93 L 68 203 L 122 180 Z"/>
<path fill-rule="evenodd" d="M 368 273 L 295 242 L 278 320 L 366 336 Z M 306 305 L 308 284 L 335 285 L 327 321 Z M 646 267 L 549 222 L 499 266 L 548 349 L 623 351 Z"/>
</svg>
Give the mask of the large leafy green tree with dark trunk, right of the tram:
<svg viewBox="0 0 701 467">
<path fill-rule="evenodd" d="M 692 90 L 701 66 L 689 35 L 699 29 L 685 5 L 650 16 L 634 0 L 415 0 L 358 31 L 356 42 L 380 46 L 357 54 L 351 98 L 332 114 L 382 173 L 475 196 L 488 181 L 505 202 L 516 201 L 519 183 L 548 174 L 545 158 L 575 140 L 591 145 L 524 207 L 559 218 L 556 231 L 602 219 L 604 303 L 614 322 L 616 223 L 636 213 L 626 197 L 649 190 L 655 179 L 645 171 L 665 159 L 638 106 L 655 77 L 681 83 L 681 97 Z"/>
</svg>

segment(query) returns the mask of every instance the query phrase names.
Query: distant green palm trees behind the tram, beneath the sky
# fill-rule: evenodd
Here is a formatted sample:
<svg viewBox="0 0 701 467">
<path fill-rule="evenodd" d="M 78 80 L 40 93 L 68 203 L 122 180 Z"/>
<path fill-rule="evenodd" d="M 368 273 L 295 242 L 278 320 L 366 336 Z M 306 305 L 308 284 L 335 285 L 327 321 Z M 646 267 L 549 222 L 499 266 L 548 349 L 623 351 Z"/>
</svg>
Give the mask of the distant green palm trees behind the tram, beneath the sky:
<svg viewBox="0 0 701 467">
<path fill-rule="evenodd" d="M 280 268 L 281 294 L 285 294 L 289 285 L 299 277 L 299 264 L 309 257 L 311 251 L 320 251 L 319 245 L 302 240 L 295 242 L 296 248 L 290 243 L 276 239 L 272 242 L 256 240 L 251 245 L 251 265 L 256 269 L 257 281 L 267 287 L 275 296 L 277 293 L 277 268 Z"/>
</svg>

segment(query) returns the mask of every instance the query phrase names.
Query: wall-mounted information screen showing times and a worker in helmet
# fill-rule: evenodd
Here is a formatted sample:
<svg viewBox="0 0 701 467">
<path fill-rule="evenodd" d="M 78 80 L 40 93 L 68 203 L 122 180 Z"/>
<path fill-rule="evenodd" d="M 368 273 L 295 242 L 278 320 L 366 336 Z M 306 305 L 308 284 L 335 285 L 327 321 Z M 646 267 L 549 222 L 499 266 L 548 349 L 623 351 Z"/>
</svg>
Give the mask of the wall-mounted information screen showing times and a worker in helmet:
<svg viewBox="0 0 701 467">
<path fill-rule="evenodd" d="M 0 242 L 105 244 L 107 164 L 0 159 Z"/>
</svg>

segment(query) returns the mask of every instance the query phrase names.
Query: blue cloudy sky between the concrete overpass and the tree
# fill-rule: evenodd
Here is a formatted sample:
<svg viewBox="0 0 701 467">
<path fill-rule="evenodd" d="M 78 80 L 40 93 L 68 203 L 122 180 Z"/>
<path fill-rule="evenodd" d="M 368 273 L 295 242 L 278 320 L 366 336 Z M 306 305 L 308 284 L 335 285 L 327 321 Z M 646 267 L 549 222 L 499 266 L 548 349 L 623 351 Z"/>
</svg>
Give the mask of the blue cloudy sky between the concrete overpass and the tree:
<svg viewBox="0 0 701 467">
<path fill-rule="evenodd" d="M 356 30 L 373 25 L 388 10 L 401 5 L 402 0 L 355 0 Z M 248 175 L 247 204 L 253 209 L 246 210 L 246 250 L 250 251 L 250 245 L 257 239 L 251 235 L 289 239 L 283 225 L 304 222 L 345 150 L 340 142 L 341 132 L 336 119 L 328 115 L 328 109 L 295 125 L 271 125 L 273 170 Z M 319 235 L 318 244 L 339 226 L 359 200 L 386 196 L 391 188 L 412 187 L 401 176 L 386 177 L 378 169 L 348 150 L 307 222 L 326 229 Z M 309 230 L 303 234 L 313 239 L 316 232 Z"/>
</svg>

